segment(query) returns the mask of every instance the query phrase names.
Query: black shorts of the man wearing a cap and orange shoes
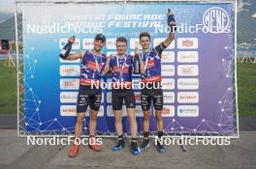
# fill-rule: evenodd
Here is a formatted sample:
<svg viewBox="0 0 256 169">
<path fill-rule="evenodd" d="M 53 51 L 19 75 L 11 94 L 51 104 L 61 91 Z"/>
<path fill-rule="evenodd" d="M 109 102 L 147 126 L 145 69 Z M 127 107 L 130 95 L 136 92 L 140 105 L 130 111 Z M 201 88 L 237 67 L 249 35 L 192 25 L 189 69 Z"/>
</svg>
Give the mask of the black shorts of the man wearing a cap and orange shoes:
<svg viewBox="0 0 256 169">
<path fill-rule="evenodd" d="M 88 105 L 92 110 L 99 111 L 102 101 L 102 89 L 91 89 L 90 85 L 80 85 L 77 112 L 86 112 Z"/>
</svg>

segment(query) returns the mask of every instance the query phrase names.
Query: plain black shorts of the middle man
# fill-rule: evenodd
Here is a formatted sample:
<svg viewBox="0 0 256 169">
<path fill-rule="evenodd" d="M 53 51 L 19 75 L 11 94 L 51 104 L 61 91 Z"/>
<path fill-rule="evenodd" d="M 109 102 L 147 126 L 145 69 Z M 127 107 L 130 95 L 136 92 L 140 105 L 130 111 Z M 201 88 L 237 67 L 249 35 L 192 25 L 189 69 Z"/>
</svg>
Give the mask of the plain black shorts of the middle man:
<svg viewBox="0 0 256 169">
<path fill-rule="evenodd" d="M 126 108 L 135 108 L 133 89 L 112 89 L 112 110 L 121 110 L 123 100 Z"/>
</svg>

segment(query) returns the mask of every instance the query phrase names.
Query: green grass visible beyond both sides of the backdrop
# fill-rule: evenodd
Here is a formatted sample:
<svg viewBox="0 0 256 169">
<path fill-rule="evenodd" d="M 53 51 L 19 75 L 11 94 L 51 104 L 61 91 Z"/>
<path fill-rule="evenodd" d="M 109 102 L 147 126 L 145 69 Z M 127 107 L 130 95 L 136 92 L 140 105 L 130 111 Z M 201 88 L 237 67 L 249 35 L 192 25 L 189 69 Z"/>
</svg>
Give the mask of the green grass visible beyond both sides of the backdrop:
<svg viewBox="0 0 256 169">
<path fill-rule="evenodd" d="M 16 69 L 0 61 L 0 114 L 16 113 Z M 256 64 L 238 63 L 240 116 L 256 116 Z"/>
</svg>

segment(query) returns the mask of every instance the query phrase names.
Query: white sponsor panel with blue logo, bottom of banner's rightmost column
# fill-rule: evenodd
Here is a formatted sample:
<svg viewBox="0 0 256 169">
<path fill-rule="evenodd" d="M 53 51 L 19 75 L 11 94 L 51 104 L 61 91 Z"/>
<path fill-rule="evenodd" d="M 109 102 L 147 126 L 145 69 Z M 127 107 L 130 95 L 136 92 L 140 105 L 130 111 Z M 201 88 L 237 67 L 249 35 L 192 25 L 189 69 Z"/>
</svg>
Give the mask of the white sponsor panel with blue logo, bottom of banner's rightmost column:
<svg viewBox="0 0 256 169">
<path fill-rule="evenodd" d="M 178 105 L 176 111 L 178 117 L 199 116 L 199 107 L 197 105 Z"/>
</svg>

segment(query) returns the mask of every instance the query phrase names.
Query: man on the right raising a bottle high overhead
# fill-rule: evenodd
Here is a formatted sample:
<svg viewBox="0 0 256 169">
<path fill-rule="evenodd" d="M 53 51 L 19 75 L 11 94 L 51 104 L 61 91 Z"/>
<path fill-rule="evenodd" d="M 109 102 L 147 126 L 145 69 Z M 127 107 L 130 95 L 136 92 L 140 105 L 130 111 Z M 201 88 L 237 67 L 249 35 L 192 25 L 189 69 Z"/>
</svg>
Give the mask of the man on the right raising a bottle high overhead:
<svg viewBox="0 0 256 169">
<path fill-rule="evenodd" d="M 167 48 L 171 42 L 175 40 L 176 20 L 174 14 L 168 13 L 168 25 L 171 28 L 168 38 L 161 42 L 159 45 L 151 48 L 150 47 L 150 35 L 147 32 L 140 34 L 140 43 L 143 48 L 140 54 L 141 59 L 141 73 L 144 88 L 141 89 L 141 104 L 144 111 L 144 141 L 141 147 L 141 151 L 144 152 L 149 147 L 148 131 L 149 131 L 149 118 L 150 118 L 150 106 L 153 101 L 155 108 L 155 118 L 157 122 L 158 138 L 161 139 L 163 136 L 163 91 L 161 87 L 161 55 L 162 51 Z M 159 141 L 157 142 L 156 148 L 159 153 L 165 153 L 166 150 L 164 145 Z"/>
</svg>

